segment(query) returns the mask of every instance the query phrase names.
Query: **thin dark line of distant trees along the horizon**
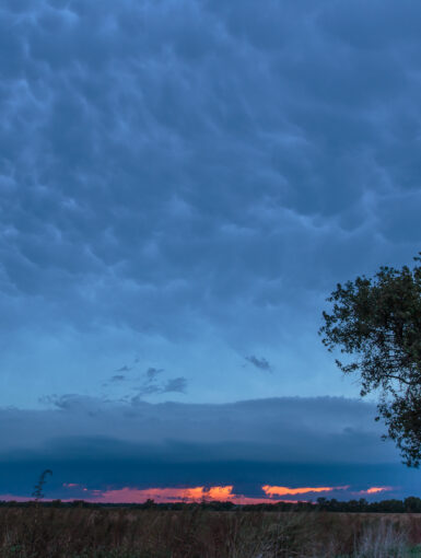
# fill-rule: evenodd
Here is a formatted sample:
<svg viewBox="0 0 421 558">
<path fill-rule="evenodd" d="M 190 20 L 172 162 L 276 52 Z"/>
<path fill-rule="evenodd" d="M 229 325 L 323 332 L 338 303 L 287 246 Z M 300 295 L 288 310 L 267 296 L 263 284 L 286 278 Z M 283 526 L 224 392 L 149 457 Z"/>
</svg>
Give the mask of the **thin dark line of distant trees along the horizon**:
<svg viewBox="0 0 421 558">
<path fill-rule="evenodd" d="M 315 502 L 276 502 L 258 504 L 235 504 L 233 502 L 202 501 L 200 503 L 168 502 L 156 503 L 153 500 L 147 500 L 143 503 L 92 503 L 84 500 L 73 500 L 62 502 L 52 500 L 49 502 L 17 502 L 14 500 L 0 500 L 2 508 L 31 508 L 35 504 L 43 508 L 130 508 L 135 510 L 208 510 L 208 511 L 268 511 L 268 512 L 347 512 L 347 513 L 421 513 L 421 499 L 410 496 L 405 500 L 382 500 L 379 502 L 369 502 L 364 498 L 359 500 L 340 501 L 332 498 L 317 498 Z"/>
</svg>

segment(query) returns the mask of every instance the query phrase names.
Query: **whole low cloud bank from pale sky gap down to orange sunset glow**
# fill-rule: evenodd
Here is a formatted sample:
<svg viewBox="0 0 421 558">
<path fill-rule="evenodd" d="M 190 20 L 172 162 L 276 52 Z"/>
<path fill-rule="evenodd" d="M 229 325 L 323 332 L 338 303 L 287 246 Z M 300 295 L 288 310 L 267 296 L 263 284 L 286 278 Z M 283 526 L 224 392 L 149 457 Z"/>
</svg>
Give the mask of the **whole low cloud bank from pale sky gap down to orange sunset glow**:
<svg viewBox="0 0 421 558">
<path fill-rule="evenodd" d="M 374 407 L 358 400 L 124 405 L 67 395 L 50 403 L 46 410 L 0 410 L 0 495 L 27 496 L 46 467 L 54 470 L 51 498 L 83 496 L 63 492 L 66 483 L 89 490 L 233 484 L 249 496 L 264 484 L 391 486 L 393 496 L 419 487 L 419 475 L 379 440 Z"/>
</svg>

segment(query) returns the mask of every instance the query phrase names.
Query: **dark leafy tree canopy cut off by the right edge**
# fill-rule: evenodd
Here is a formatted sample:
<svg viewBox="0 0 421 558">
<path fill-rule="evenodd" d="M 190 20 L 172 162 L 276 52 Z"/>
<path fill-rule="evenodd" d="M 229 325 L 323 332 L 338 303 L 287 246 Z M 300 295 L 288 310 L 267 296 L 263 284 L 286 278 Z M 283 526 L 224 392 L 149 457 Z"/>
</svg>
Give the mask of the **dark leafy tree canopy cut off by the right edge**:
<svg viewBox="0 0 421 558">
<path fill-rule="evenodd" d="M 420 253 L 421 255 L 421 253 Z M 401 269 L 381 267 L 373 278 L 337 284 L 319 329 L 346 374 L 358 373 L 361 395 L 379 393 L 378 411 L 408 466 L 421 461 L 421 257 Z M 376 420 L 379 419 L 376 417 Z"/>
</svg>

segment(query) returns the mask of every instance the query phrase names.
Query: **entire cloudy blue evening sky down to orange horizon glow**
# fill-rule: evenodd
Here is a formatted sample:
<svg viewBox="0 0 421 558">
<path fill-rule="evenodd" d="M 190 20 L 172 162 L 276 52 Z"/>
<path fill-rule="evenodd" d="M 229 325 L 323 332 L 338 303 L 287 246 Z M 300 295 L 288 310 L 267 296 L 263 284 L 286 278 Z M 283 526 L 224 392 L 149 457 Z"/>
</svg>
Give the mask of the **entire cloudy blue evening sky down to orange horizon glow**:
<svg viewBox="0 0 421 558">
<path fill-rule="evenodd" d="M 420 25 L 1 2 L 0 499 L 44 468 L 62 499 L 421 492 L 317 335 L 337 282 L 420 251 Z"/>
</svg>

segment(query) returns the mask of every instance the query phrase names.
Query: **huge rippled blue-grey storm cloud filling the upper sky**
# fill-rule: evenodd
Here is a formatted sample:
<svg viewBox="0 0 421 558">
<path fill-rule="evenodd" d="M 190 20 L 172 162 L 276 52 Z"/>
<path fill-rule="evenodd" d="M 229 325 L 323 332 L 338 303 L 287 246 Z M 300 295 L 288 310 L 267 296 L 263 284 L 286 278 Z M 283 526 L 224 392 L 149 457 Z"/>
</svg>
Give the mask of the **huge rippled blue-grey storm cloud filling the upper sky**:
<svg viewBox="0 0 421 558">
<path fill-rule="evenodd" d="M 391 0 L 3 2 L 4 327 L 258 341 L 271 309 L 416 254 L 420 23 Z"/>
</svg>

